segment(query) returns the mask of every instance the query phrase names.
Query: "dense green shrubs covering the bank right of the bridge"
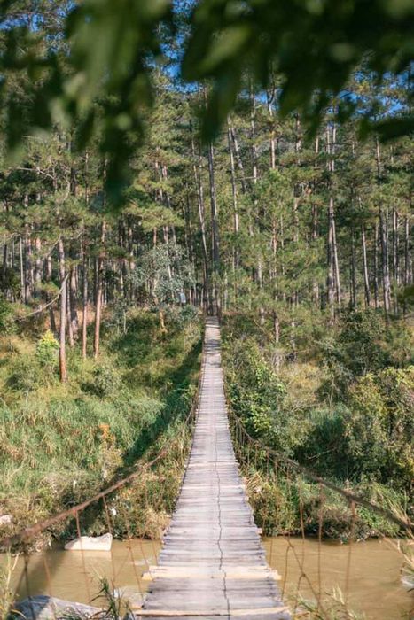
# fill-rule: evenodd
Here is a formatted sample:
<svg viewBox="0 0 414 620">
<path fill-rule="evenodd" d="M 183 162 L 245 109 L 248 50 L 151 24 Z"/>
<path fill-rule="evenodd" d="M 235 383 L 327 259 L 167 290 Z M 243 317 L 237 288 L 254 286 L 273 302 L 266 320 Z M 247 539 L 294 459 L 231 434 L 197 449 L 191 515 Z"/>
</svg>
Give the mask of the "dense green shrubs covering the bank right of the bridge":
<svg viewBox="0 0 414 620">
<path fill-rule="evenodd" d="M 230 406 L 248 432 L 319 476 L 411 514 L 414 366 L 410 354 L 391 355 L 400 338 L 410 342 L 403 323 L 387 325 L 373 312 L 346 314 L 323 337 L 310 328 L 311 353 L 277 368 L 271 326 L 248 329 L 251 317 L 240 318 L 226 319 L 224 360 Z M 316 533 L 319 485 L 293 472 L 291 488 L 281 476 L 275 490 L 264 474 L 263 468 L 251 470 L 248 490 L 266 530 L 301 531 L 301 494 L 305 528 Z M 353 526 L 347 502 L 324 490 L 323 509 L 324 535 L 348 539 Z M 357 508 L 357 536 L 394 531 L 387 519 Z"/>
</svg>

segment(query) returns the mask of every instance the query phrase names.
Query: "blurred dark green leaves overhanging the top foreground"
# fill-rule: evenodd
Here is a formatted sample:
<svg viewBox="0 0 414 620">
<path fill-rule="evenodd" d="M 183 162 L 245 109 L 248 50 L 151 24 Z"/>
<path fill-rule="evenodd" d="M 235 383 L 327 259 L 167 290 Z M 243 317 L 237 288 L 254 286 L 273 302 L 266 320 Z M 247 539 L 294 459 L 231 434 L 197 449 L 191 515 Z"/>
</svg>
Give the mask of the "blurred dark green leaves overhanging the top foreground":
<svg viewBox="0 0 414 620">
<path fill-rule="evenodd" d="M 248 81 L 271 93 L 278 112 L 301 112 L 314 131 L 327 107 L 339 120 L 356 112 L 363 131 L 373 126 L 382 137 L 413 129 L 414 5 L 407 0 L 4 0 L 0 11 L 9 150 L 34 129 L 76 122 L 75 146 L 98 135 L 112 156 L 107 179 L 115 188 L 132 152 L 130 132 L 143 135 L 154 67 L 166 63 L 180 88 L 208 85 L 207 137 Z M 370 74 L 376 88 L 391 79 L 391 115 L 382 109 L 384 93 L 367 101 L 359 86 L 350 88 L 355 70 Z M 406 87 L 403 102 L 393 97 L 396 85 Z"/>
</svg>

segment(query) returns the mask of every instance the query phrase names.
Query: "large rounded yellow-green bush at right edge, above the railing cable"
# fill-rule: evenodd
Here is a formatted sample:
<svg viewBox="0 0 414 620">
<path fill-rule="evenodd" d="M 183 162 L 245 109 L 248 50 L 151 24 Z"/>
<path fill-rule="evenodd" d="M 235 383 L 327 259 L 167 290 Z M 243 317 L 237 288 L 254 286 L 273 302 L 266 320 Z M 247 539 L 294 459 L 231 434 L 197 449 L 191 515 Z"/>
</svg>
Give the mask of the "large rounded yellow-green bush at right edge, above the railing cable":
<svg viewBox="0 0 414 620">
<path fill-rule="evenodd" d="M 360 377 L 347 404 L 316 409 L 295 456 L 342 480 L 367 478 L 410 490 L 414 479 L 414 368 Z"/>
</svg>

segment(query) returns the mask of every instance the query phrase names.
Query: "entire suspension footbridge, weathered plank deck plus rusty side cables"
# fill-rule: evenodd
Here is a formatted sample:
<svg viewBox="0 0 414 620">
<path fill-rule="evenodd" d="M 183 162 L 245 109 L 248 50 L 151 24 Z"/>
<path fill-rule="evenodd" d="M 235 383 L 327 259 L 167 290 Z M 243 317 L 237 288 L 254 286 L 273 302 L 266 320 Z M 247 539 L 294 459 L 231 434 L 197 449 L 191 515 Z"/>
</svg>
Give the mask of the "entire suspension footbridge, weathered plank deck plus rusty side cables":
<svg viewBox="0 0 414 620">
<path fill-rule="evenodd" d="M 191 428 L 191 418 L 195 418 L 192 435 L 190 456 L 186 463 L 184 479 L 176 501 L 176 508 L 172 516 L 168 531 L 163 537 L 157 565 L 151 566 L 146 562 L 145 577 L 149 581 L 147 592 L 142 588 L 142 579 L 136 574 L 138 603 L 131 605 L 131 613 L 135 620 L 152 618 L 240 618 L 251 620 L 290 620 L 297 617 L 301 609 L 300 585 L 306 582 L 309 592 L 316 602 L 317 610 L 324 611 L 321 599 L 320 563 L 318 565 L 318 585 L 315 587 L 304 568 L 303 552 L 298 554 L 287 539 L 288 550 L 293 554 L 299 569 L 299 580 L 296 593 L 289 598 L 289 606 L 285 601 L 285 577 L 283 587 L 279 589 L 278 574 L 271 570 L 266 562 L 262 546 L 261 532 L 254 523 L 254 515 L 246 499 L 246 489 L 240 475 L 239 466 L 246 467 L 248 475 L 251 468 L 260 471 L 270 485 L 277 488 L 278 477 L 285 480 L 287 494 L 290 497 L 295 476 L 306 477 L 317 483 L 322 490 L 329 490 L 344 500 L 344 510 L 350 509 L 352 515 L 351 531 L 356 519 L 356 506 L 367 508 L 372 512 L 386 517 L 389 522 L 398 526 L 400 531 L 413 531 L 413 523 L 405 515 L 395 514 L 387 507 L 372 503 L 363 497 L 356 496 L 347 489 L 340 488 L 330 480 L 316 475 L 311 469 L 277 453 L 260 441 L 250 437 L 246 428 L 236 415 L 229 415 L 224 394 L 223 370 L 221 364 L 220 326 L 217 318 L 209 317 L 206 320 L 205 340 L 203 348 L 202 368 L 199 374 L 199 390 L 191 412 L 184 424 L 184 429 Z M 231 430 L 231 434 L 230 434 Z M 188 432 L 188 431 L 186 431 Z M 25 616 L 35 620 L 42 618 L 63 618 L 71 614 L 71 608 L 57 610 L 53 605 L 54 593 L 52 588 L 51 571 L 48 567 L 48 558 L 44 549 L 42 563 L 45 580 L 48 584 L 50 596 L 31 597 L 30 561 L 33 555 L 29 553 L 30 545 L 35 546 L 36 537 L 65 522 L 75 523 L 78 538 L 81 541 L 82 576 L 88 583 L 85 554 L 82 548 L 82 515 L 88 517 L 88 508 L 103 503 L 103 515 L 106 518 L 108 531 L 113 531 L 108 501 L 116 500 L 116 494 L 122 487 L 132 482 L 143 480 L 145 484 L 145 470 L 160 464 L 171 450 L 167 440 L 160 451 L 148 461 L 138 463 L 135 469 L 115 481 L 97 495 L 81 504 L 67 508 L 59 515 L 52 515 L 40 523 L 35 523 L 18 534 L 0 541 L 0 549 L 12 550 L 16 545 L 23 548 L 24 569 L 20 576 L 20 583 L 24 583 L 27 593 L 28 606 Z M 236 451 L 236 452 L 235 452 Z M 237 458 L 236 458 L 237 456 Z M 151 457 L 150 457 L 151 458 Z M 183 461 L 184 462 L 184 461 Z M 300 503 L 301 538 L 305 539 L 303 519 L 303 499 L 301 485 L 297 487 Z M 319 548 L 322 541 L 324 520 L 324 494 L 320 495 L 321 508 L 319 511 L 320 523 L 318 532 Z M 269 507 L 265 506 L 268 514 Z M 268 518 L 268 516 L 266 516 Z M 133 534 L 125 513 L 125 525 L 128 539 Z M 263 525 L 264 527 L 264 525 Z M 282 529 L 279 528 L 282 536 Z M 352 537 L 351 537 L 352 540 Z M 272 562 L 270 546 L 269 563 Z M 348 562 L 345 573 L 346 593 L 352 545 L 348 546 Z M 136 566 L 129 546 L 130 562 Z M 144 554 L 145 555 L 145 554 Z M 156 560 L 156 554 L 154 554 Z M 287 558 L 287 556 L 286 556 Z M 285 558 L 285 561 L 286 561 Z M 112 557 L 113 562 L 113 557 Z M 280 567 L 284 575 L 286 566 Z M 115 574 L 113 567 L 113 574 Z M 36 569 L 37 570 L 37 569 Z M 74 578 L 82 578 L 81 574 Z M 92 594 L 88 585 L 88 600 Z M 19 592 L 19 585 L 16 589 Z M 45 609 L 51 601 L 51 616 L 45 616 Z M 66 603 L 67 601 L 59 601 Z M 347 604 L 345 603 L 347 609 Z M 63 609 L 63 611 L 62 611 Z M 65 611 L 66 609 L 66 611 Z M 77 610 L 79 608 L 75 608 Z M 92 608 L 90 608 L 92 609 Z M 62 611 L 62 613 L 60 613 Z M 101 611 L 95 609 L 96 613 Z M 86 612 L 85 612 L 86 613 Z M 348 612 L 347 612 L 348 613 Z M 42 615 L 43 614 L 43 615 Z M 73 614 L 72 614 L 73 615 Z M 21 614 L 20 614 L 21 617 Z M 83 617 L 82 613 L 76 617 Z M 324 617 L 324 616 L 318 616 Z M 130 620 L 131 616 L 129 616 Z"/>
</svg>

